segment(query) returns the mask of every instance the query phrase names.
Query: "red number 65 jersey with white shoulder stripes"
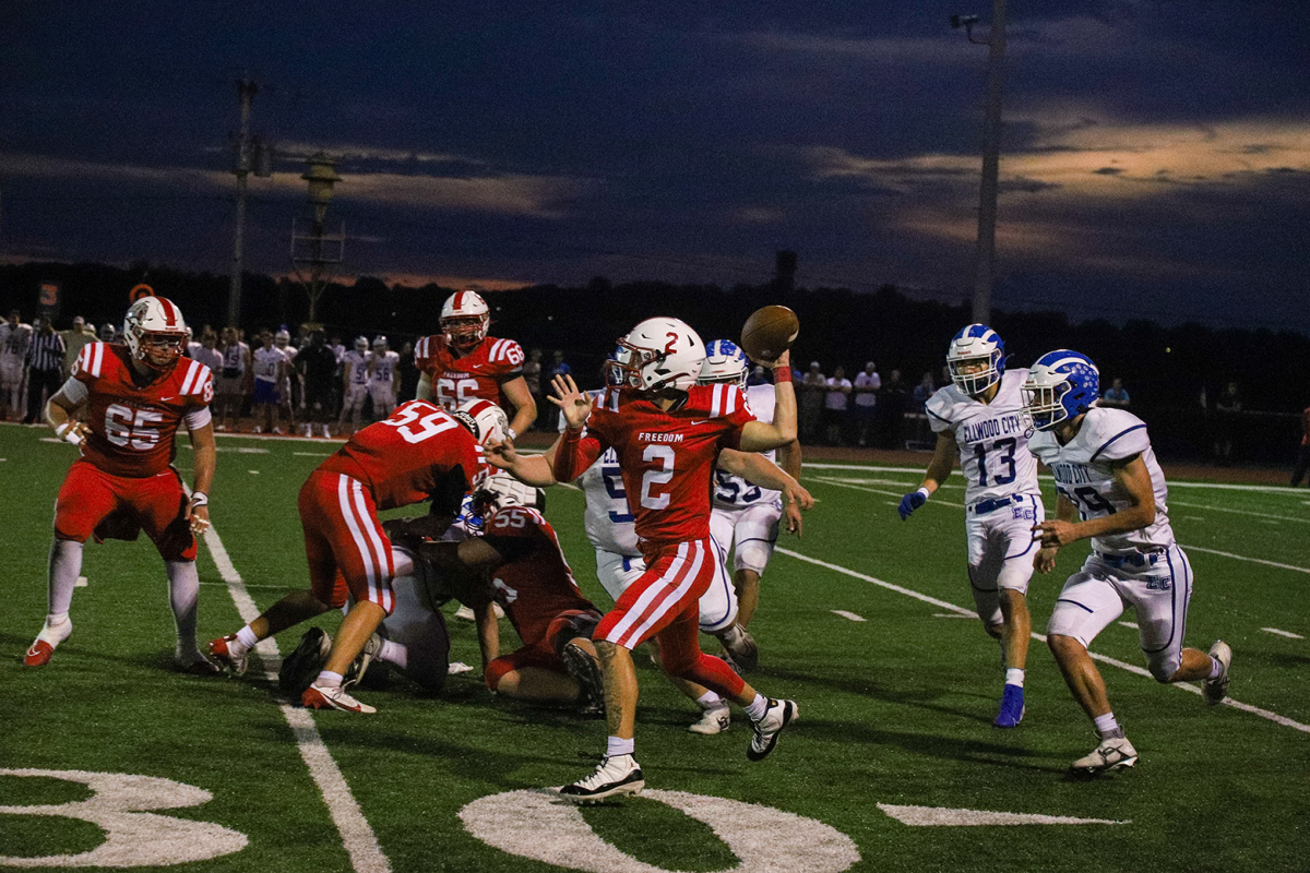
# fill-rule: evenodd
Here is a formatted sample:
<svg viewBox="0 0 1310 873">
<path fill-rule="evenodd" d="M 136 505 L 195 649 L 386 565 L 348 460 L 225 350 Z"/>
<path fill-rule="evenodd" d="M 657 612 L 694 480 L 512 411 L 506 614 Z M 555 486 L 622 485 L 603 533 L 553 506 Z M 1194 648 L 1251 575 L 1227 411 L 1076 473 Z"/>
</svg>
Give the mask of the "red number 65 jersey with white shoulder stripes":
<svg viewBox="0 0 1310 873">
<path fill-rule="evenodd" d="M 182 418 L 204 411 L 208 420 L 214 399 L 214 374 L 204 364 L 183 357 L 166 374 L 139 385 L 131 352 L 117 343 L 83 346 L 72 378 L 89 393 L 90 435 L 81 445 L 83 457 L 115 476 L 135 479 L 166 470 L 177 455 L 173 437 Z"/>
</svg>

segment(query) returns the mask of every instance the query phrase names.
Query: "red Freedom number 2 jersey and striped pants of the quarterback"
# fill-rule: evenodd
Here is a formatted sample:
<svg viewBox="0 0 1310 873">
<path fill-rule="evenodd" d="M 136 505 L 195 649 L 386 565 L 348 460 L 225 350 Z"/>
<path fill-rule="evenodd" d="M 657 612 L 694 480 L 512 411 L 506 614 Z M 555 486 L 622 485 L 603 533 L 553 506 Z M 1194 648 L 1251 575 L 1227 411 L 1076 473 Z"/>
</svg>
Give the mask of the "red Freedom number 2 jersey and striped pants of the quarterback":
<svg viewBox="0 0 1310 873">
<path fill-rule="evenodd" d="M 627 503 L 635 517 L 646 573 L 618 598 L 596 628 L 633 649 L 659 636 L 664 670 L 734 696 L 741 678 L 697 641 L 698 601 L 722 558 L 710 538 L 710 479 L 722 449 L 736 449 L 753 421 L 736 385 L 698 385 L 681 408 L 609 389 L 592 408 L 582 433 L 566 432 L 555 457 L 555 478 L 572 480 L 613 446 Z"/>
</svg>

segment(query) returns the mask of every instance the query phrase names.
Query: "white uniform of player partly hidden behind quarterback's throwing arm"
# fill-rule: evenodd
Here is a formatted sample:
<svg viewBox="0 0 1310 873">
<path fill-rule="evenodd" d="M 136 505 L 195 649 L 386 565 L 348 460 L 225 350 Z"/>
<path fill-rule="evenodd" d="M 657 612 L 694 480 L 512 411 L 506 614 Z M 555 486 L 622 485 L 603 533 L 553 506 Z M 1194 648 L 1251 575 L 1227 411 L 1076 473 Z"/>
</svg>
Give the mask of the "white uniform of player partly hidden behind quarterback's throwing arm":
<svg viewBox="0 0 1310 873">
<path fill-rule="evenodd" d="M 745 399 L 758 420 L 773 423 L 777 399 L 772 385 L 747 387 Z M 765 452 L 764 457 L 777 461 L 777 452 Z M 741 476 L 723 470 L 714 471 L 710 534 L 724 550 L 724 563 L 727 563 L 727 550 L 732 548 L 734 569 L 749 569 L 762 576 L 773 556 L 773 547 L 778 542 L 779 518 L 782 518 L 779 492 L 753 486 Z"/>
</svg>

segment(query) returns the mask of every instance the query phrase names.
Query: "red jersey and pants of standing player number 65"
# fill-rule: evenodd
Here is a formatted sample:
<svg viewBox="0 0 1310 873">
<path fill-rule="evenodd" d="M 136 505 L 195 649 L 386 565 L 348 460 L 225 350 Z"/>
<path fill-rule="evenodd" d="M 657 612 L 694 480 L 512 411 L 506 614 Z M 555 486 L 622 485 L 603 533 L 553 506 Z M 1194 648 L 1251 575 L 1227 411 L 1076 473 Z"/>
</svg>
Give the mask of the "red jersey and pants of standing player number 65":
<svg viewBox="0 0 1310 873">
<path fill-rule="evenodd" d="M 182 480 L 170 465 L 174 435 L 210 423 L 214 374 L 189 357 L 151 382 L 134 378 L 127 347 L 89 343 L 63 391 L 86 403 L 90 433 L 68 470 L 55 503 L 55 538 L 86 542 L 115 512 L 132 516 L 165 560 L 194 560 Z M 135 524 L 127 525 L 135 530 Z"/>
</svg>

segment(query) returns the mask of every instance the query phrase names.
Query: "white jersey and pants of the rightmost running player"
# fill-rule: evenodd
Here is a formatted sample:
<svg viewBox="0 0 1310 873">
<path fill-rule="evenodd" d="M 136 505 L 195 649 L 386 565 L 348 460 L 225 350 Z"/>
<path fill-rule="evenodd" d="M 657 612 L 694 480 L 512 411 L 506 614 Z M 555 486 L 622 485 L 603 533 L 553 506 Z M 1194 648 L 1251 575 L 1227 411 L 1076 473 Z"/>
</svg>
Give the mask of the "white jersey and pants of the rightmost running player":
<svg viewBox="0 0 1310 873">
<path fill-rule="evenodd" d="M 1060 592 L 1047 633 L 1072 636 L 1090 647 L 1132 606 L 1151 675 L 1167 681 L 1182 664 L 1192 567 L 1174 542 L 1169 488 L 1146 424 L 1127 410 L 1093 407 L 1068 445 L 1060 445 L 1049 431 L 1036 432 L 1028 445 L 1051 467 L 1060 495 L 1078 508 L 1083 521 L 1131 508 L 1128 495 L 1115 483 L 1112 465 L 1138 454 L 1146 463 L 1155 521 L 1140 530 L 1093 537 L 1091 555 Z"/>
</svg>

